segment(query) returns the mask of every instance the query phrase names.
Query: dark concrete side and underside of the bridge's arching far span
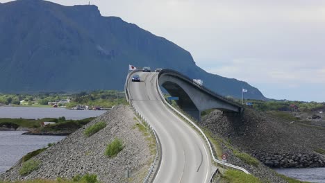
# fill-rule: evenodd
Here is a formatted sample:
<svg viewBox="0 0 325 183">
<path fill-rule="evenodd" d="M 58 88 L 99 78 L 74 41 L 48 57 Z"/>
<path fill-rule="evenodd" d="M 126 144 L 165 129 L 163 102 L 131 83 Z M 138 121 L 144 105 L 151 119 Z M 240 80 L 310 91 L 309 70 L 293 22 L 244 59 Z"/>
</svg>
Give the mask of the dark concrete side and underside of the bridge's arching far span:
<svg viewBox="0 0 325 183">
<path fill-rule="evenodd" d="M 238 114 L 244 109 L 242 105 L 212 92 L 210 89 L 172 69 L 160 71 L 158 82 L 171 96 L 179 98 L 176 103 L 184 112 L 187 112 L 198 121 L 200 121 L 201 112 L 204 110 L 217 109 L 225 113 Z"/>
</svg>

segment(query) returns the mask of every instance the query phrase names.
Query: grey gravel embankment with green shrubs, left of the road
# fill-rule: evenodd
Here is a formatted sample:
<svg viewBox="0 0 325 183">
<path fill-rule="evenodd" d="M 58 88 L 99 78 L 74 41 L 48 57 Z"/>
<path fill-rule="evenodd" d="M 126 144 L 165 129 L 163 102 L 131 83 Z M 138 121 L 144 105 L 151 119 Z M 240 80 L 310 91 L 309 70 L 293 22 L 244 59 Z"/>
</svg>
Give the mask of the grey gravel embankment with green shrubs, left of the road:
<svg viewBox="0 0 325 183">
<path fill-rule="evenodd" d="M 41 162 L 38 170 L 21 176 L 19 169 L 22 164 L 18 164 L 0 175 L 0 180 L 72 178 L 93 173 L 101 182 L 123 182 L 126 172 L 130 171 L 129 182 L 142 182 L 153 155 L 146 137 L 135 128 L 138 121 L 133 118 L 133 111 L 128 106 L 117 106 L 33 157 Z M 106 122 L 106 128 L 85 137 L 85 128 L 99 121 Z M 115 138 L 122 139 L 124 149 L 117 157 L 108 158 L 104 151 Z"/>
</svg>

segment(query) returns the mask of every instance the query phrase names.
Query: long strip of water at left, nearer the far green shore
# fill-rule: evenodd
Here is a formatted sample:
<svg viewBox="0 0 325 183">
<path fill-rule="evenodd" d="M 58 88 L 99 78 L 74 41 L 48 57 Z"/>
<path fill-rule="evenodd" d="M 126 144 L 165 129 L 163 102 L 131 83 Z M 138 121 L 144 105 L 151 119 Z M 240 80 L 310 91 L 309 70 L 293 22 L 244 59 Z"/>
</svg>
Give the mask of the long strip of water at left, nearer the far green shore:
<svg viewBox="0 0 325 183">
<path fill-rule="evenodd" d="M 106 111 L 67 110 L 60 107 L 0 107 L 0 118 L 42 119 L 65 116 L 65 119 L 85 119 L 100 116 L 104 112 Z"/>
</svg>

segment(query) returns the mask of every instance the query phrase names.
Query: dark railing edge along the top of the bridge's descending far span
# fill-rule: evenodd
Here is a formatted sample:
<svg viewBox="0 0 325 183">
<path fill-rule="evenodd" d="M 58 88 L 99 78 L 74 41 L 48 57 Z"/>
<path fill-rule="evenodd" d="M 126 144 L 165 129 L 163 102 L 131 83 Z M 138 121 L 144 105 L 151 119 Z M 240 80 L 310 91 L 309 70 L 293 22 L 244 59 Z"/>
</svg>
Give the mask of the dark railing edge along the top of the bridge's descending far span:
<svg viewBox="0 0 325 183">
<path fill-rule="evenodd" d="M 212 96 L 215 96 L 215 97 L 221 99 L 222 101 L 226 101 L 227 103 L 231 103 L 232 105 L 235 105 L 238 107 L 242 107 L 242 108 L 244 107 L 242 104 L 236 102 L 235 100 L 233 100 L 231 98 L 226 98 L 225 96 L 222 96 L 221 94 L 217 94 L 217 92 L 213 92 L 211 89 L 208 89 L 207 87 L 204 87 L 203 85 L 199 85 L 197 82 L 194 82 L 192 80 L 192 78 L 185 76 L 183 73 L 180 73 L 173 69 L 163 69 L 159 72 L 158 78 L 163 74 L 177 76 L 178 78 L 181 78 L 182 80 L 185 80 L 186 82 L 190 82 L 192 85 L 195 85 L 196 87 L 202 89 L 204 92 L 206 92 Z"/>
</svg>

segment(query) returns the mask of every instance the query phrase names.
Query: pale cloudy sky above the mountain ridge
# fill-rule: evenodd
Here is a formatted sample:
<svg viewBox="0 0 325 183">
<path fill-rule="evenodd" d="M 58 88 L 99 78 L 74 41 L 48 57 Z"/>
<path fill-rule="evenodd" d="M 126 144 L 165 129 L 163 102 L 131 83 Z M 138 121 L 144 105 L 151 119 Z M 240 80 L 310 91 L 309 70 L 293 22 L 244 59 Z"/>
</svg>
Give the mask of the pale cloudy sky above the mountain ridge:
<svg viewBox="0 0 325 183">
<path fill-rule="evenodd" d="M 88 0 L 50 0 L 65 6 Z M 6 1 L 0 0 L 4 3 Z M 93 0 L 190 51 L 199 67 L 267 98 L 325 101 L 325 1 Z"/>
</svg>

